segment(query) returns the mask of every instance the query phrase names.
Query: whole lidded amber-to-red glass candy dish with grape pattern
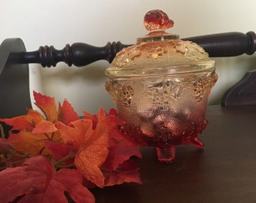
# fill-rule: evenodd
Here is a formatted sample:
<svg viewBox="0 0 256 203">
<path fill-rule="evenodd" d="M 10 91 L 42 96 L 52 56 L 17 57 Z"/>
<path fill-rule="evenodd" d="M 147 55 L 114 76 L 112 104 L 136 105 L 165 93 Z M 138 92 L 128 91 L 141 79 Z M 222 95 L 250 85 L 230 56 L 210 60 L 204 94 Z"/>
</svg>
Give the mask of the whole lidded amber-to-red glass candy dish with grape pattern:
<svg viewBox="0 0 256 203">
<path fill-rule="evenodd" d="M 154 146 L 160 162 L 175 159 L 175 146 L 194 144 L 206 128 L 209 93 L 218 80 L 215 61 L 202 47 L 165 32 L 173 21 L 163 11 L 145 14 L 148 35 L 117 53 L 105 74 L 126 135 Z"/>
</svg>

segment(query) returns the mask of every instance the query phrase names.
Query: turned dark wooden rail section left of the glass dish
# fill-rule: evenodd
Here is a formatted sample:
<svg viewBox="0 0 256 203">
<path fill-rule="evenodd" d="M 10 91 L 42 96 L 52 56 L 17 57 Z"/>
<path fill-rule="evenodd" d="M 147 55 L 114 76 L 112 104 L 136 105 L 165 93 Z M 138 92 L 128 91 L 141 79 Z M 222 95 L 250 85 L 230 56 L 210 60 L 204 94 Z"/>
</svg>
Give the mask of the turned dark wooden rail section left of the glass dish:
<svg viewBox="0 0 256 203">
<path fill-rule="evenodd" d="M 32 52 L 11 53 L 8 60 L 16 63 L 40 63 L 43 67 L 55 67 L 57 62 L 81 67 L 101 59 L 111 62 L 118 51 L 129 46 L 131 45 L 121 44 L 120 41 L 108 42 L 105 47 L 84 43 L 75 43 L 72 46 L 66 44 L 62 50 L 56 50 L 53 46 L 41 46 Z"/>
</svg>

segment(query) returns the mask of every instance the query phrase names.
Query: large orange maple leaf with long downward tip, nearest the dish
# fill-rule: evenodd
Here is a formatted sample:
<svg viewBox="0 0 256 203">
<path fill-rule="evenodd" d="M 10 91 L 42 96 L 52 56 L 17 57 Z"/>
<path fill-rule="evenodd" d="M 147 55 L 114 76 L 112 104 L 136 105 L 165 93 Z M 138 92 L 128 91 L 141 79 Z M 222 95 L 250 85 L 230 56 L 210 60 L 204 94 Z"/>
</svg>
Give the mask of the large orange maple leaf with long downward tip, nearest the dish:
<svg viewBox="0 0 256 203">
<path fill-rule="evenodd" d="M 64 143 L 73 144 L 77 149 L 75 167 L 96 186 L 102 187 L 105 184 L 101 166 L 108 156 L 110 132 L 121 123 L 123 122 L 117 117 L 107 117 L 103 108 L 100 108 L 97 114 L 95 129 L 93 129 L 93 120 L 86 118 L 72 122 L 69 126 L 56 123 Z"/>
</svg>

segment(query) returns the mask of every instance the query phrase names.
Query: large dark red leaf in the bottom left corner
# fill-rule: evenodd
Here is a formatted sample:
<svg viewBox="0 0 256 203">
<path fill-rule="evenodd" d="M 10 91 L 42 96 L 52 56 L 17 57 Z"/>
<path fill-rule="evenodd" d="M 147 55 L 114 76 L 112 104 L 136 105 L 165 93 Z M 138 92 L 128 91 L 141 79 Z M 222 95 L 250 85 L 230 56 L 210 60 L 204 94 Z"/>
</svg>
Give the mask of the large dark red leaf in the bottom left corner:
<svg viewBox="0 0 256 203">
<path fill-rule="evenodd" d="M 63 168 L 55 172 L 50 161 L 43 156 L 27 159 L 23 165 L 0 172 L 0 199 L 19 203 L 67 202 L 64 192 L 79 202 L 94 202 L 95 198 L 82 185 L 83 175 L 75 169 Z"/>
</svg>

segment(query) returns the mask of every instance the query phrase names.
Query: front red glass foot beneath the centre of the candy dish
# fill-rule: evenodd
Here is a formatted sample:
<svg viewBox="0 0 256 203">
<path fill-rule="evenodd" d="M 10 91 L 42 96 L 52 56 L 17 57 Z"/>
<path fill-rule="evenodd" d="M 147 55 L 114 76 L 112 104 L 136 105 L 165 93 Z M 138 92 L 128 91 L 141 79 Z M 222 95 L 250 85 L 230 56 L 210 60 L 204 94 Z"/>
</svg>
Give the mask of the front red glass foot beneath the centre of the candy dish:
<svg viewBox="0 0 256 203">
<path fill-rule="evenodd" d="M 175 159 L 175 145 L 171 145 L 168 148 L 156 147 L 157 159 L 160 162 L 169 163 Z"/>
</svg>

